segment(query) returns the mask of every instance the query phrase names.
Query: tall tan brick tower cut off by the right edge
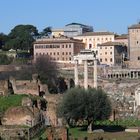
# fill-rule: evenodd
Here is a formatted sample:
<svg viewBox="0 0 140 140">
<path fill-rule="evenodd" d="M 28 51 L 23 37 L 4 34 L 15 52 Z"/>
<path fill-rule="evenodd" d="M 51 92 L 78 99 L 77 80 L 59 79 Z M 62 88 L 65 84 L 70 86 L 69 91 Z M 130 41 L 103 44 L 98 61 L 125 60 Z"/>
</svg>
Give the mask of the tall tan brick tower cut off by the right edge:
<svg viewBox="0 0 140 140">
<path fill-rule="evenodd" d="M 140 67 L 140 23 L 128 27 L 128 56 L 130 67 Z"/>
</svg>

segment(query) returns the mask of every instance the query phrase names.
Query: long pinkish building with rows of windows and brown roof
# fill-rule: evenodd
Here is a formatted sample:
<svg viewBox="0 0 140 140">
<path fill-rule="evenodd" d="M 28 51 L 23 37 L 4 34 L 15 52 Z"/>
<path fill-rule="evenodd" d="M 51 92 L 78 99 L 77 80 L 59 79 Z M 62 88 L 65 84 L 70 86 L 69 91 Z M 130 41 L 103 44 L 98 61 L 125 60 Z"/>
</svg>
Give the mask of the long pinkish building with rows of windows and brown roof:
<svg viewBox="0 0 140 140">
<path fill-rule="evenodd" d="M 81 40 L 59 37 L 43 38 L 34 42 L 34 59 L 38 56 L 50 56 L 51 60 L 57 62 L 72 62 L 73 56 L 84 49 Z"/>
</svg>

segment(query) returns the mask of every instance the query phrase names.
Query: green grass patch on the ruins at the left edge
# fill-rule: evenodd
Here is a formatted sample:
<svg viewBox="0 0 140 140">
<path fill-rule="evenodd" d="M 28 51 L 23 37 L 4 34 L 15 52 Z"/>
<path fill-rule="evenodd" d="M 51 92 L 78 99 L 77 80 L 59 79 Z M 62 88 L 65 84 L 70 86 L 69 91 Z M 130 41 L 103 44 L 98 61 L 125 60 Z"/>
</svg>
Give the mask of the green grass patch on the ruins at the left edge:
<svg viewBox="0 0 140 140">
<path fill-rule="evenodd" d="M 0 97 L 0 112 L 5 112 L 10 107 L 21 106 L 22 98 L 27 95 L 9 95 Z"/>
</svg>

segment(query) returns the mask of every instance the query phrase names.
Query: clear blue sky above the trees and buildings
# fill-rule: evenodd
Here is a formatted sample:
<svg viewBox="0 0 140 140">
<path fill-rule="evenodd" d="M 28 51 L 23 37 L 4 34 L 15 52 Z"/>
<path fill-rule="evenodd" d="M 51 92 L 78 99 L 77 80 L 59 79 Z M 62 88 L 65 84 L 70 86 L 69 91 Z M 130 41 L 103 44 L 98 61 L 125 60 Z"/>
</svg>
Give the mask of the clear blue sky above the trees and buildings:
<svg viewBox="0 0 140 140">
<path fill-rule="evenodd" d="M 0 0 L 0 32 L 5 34 L 19 24 L 34 25 L 40 32 L 72 22 L 124 34 L 139 21 L 140 0 Z"/>
</svg>

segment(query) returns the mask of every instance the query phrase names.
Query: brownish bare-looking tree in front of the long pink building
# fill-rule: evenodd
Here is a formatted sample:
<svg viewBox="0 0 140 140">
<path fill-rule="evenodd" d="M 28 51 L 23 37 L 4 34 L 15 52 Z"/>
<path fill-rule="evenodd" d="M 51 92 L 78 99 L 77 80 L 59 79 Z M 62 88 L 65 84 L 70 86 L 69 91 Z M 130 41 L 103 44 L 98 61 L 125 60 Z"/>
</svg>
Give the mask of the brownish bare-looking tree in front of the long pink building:
<svg viewBox="0 0 140 140">
<path fill-rule="evenodd" d="M 57 64 L 49 56 L 40 56 L 36 59 L 35 69 L 40 81 L 48 85 L 49 91 L 57 92 L 56 81 L 59 73 Z"/>
</svg>

